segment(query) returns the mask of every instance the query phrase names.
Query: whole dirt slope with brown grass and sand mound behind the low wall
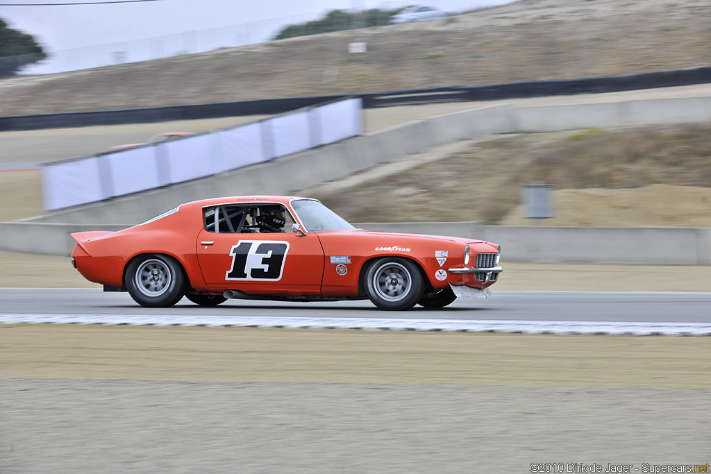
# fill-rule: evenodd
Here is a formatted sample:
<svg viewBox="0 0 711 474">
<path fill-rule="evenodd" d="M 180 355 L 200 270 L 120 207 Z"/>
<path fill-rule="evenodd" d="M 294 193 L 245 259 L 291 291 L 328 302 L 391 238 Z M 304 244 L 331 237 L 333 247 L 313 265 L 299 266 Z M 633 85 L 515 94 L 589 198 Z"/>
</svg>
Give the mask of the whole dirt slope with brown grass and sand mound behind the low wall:
<svg viewBox="0 0 711 474">
<path fill-rule="evenodd" d="M 711 227 L 711 125 L 502 136 L 353 188 L 314 190 L 351 222 L 528 225 L 520 186 L 554 185 L 546 225 Z"/>
</svg>

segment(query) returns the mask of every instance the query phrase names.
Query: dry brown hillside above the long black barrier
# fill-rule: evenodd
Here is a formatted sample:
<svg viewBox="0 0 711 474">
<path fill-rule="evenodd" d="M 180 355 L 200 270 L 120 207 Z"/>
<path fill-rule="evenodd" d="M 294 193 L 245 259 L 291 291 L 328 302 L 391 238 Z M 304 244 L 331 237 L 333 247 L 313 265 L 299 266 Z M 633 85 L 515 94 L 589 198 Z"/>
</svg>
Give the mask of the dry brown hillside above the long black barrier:
<svg viewBox="0 0 711 474">
<path fill-rule="evenodd" d="M 443 20 L 0 81 L 0 114 L 372 92 L 709 65 L 707 0 L 522 0 Z M 365 41 L 368 53 L 348 55 Z"/>
</svg>

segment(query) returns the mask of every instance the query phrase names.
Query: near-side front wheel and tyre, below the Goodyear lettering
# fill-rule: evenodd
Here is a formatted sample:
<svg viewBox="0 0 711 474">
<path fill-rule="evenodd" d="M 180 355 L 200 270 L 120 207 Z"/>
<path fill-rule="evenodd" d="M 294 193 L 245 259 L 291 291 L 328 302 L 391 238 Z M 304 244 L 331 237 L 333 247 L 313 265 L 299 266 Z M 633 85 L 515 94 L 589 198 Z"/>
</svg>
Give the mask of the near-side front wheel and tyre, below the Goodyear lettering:
<svg viewBox="0 0 711 474">
<path fill-rule="evenodd" d="M 375 260 L 365 272 L 365 291 L 380 309 L 410 309 L 424 294 L 422 272 L 412 260 L 384 257 Z"/>
</svg>

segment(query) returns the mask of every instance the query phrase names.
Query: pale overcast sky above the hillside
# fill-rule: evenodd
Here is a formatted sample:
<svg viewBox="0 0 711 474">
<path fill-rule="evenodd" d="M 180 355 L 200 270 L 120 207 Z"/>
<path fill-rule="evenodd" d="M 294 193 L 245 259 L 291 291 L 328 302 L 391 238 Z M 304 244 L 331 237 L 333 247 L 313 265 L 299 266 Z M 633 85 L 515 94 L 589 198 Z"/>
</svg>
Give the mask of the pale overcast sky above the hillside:
<svg viewBox="0 0 711 474">
<path fill-rule="evenodd" d="M 394 9 L 418 4 L 417 0 L 154 0 L 46 5 L 80 1 L 106 0 L 0 0 L 0 18 L 10 28 L 31 34 L 52 55 L 44 62 L 44 68 L 36 66 L 25 72 L 59 72 L 105 65 L 95 64 L 97 61 L 122 63 L 164 57 L 181 50 L 192 53 L 255 43 L 274 36 L 282 26 L 319 18 L 333 9 Z M 513 0 L 427 0 L 422 4 L 463 11 L 510 1 Z M 153 41 L 149 41 L 151 38 Z"/>
</svg>

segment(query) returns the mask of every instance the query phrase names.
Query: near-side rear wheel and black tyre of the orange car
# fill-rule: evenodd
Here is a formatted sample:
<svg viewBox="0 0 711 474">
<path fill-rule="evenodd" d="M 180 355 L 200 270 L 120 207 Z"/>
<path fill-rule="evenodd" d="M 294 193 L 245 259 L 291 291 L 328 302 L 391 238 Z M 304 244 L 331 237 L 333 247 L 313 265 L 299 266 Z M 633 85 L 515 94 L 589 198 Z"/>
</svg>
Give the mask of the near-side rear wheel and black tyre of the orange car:
<svg viewBox="0 0 711 474">
<path fill-rule="evenodd" d="M 126 287 L 134 301 L 149 308 L 167 308 L 183 298 L 186 278 L 175 259 L 145 254 L 126 267 Z"/>
</svg>

